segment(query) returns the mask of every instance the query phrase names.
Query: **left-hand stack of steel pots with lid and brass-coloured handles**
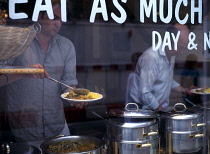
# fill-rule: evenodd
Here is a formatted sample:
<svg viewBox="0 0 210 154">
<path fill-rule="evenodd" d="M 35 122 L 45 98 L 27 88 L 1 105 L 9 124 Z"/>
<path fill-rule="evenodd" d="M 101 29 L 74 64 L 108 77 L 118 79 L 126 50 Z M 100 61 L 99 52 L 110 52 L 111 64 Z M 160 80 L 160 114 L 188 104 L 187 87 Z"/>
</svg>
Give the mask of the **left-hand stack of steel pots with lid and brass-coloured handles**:
<svg viewBox="0 0 210 154">
<path fill-rule="evenodd" d="M 133 107 L 134 106 L 134 107 Z M 110 110 L 107 120 L 108 154 L 156 154 L 159 152 L 157 115 L 128 103 L 124 110 Z"/>
</svg>

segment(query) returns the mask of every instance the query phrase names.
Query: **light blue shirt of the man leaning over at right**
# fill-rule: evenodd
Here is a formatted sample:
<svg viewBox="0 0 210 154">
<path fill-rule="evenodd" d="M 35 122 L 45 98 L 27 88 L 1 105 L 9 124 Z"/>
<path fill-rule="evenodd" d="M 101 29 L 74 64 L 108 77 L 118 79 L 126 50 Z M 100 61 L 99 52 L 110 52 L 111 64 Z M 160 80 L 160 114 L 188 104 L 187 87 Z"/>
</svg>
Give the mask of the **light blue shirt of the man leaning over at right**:
<svg viewBox="0 0 210 154">
<path fill-rule="evenodd" d="M 171 89 L 180 86 L 173 79 L 175 56 L 168 61 L 165 51 L 147 49 L 139 58 L 133 84 L 132 99 L 143 108 L 155 110 L 169 104 Z"/>
</svg>

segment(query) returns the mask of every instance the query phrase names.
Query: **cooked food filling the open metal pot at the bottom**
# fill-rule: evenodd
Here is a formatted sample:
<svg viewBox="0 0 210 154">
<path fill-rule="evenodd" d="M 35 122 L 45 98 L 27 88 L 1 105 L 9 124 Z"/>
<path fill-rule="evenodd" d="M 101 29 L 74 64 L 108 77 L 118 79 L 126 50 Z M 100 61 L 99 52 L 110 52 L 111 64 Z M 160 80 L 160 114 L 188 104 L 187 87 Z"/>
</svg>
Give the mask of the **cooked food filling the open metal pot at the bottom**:
<svg viewBox="0 0 210 154">
<path fill-rule="evenodd" d="M 52 153 L 78 153 L 91 151 L 98 148 L 94 143 L 86 140 L 78 141 L 61 141 L 56 144 L 49 145 L 47 151 Z"/>
</svg>

